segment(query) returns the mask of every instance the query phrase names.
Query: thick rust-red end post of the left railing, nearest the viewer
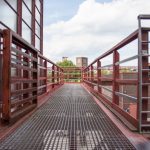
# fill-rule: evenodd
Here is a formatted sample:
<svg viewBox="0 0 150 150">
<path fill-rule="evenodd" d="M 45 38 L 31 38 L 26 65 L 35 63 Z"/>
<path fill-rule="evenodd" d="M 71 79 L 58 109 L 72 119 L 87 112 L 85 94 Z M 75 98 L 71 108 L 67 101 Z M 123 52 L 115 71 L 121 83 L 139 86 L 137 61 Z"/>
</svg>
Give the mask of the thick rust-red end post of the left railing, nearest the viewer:
<svg viewBox="0 0 150 150">
<path fill-rule="evenodd" d="M 10 119 L 10 76 L 11 76 L 11 44 L 12 33 L 10 30 L 4 30 L 4 51 L 3 51 L 3 70 L 2 70 L 2 119 Z"/>
</svg>

